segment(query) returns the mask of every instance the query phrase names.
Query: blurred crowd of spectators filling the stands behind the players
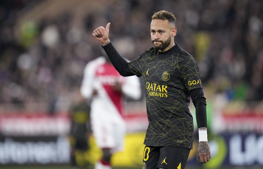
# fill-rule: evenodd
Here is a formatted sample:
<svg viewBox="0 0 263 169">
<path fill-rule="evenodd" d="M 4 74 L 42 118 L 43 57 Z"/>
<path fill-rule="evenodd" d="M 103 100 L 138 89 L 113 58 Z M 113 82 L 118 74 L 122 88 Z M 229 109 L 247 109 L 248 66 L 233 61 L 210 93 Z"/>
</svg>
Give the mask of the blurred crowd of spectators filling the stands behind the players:
<svg viewBox="0 0 263 169">
<path fill-rule="evenodd" d="M 18 25 L 21 11 L 45 3 L 33 2 L 0 2 L 1 105 L 45 103 L 44 111 L 67 110 L 86 63 L 100 55 L 94 28 L 111 22 L 114 46 L 131 60 L 152 47 L 151 16 L 162 9 L 175 14 L 175 42 L 196 58 L 207 97 L 263 104 L 261 0 L 99 0 L 82 13 L 65 10 Z"/>
</svg>

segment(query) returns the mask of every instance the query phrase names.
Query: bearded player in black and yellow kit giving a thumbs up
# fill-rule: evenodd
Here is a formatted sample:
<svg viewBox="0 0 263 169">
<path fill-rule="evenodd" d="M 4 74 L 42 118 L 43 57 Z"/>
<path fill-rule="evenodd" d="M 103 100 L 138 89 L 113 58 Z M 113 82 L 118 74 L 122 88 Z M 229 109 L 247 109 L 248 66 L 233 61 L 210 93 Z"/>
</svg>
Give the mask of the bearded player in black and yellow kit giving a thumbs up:
<svg viewBox="0 0 263 169">
<path fill-rule="evenodd" d="M 168 11 L 152 16 L 153 47 L 127 62 L 108 38 L 110 23 L 92 33 L 122 76 L 143 77 L 149 126 L 144 140 L 143 167 L 183 169 L 193 148 L 192 98 L 199 130 L 197 155 L 201 163 L 211 158 L 207 139 L 206 101 L 198 65 L 192 55 L 174 43 L 176 18 Z"/>
</svg>

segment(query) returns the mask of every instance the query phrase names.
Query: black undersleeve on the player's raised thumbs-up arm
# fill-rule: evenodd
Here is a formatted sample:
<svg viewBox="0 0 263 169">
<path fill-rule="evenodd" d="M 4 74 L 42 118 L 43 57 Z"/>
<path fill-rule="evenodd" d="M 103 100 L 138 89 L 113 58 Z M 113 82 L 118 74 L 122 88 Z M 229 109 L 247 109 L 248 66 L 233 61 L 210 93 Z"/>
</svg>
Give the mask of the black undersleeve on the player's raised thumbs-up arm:
<svg viewBox="0 0 263 169">
<path fill-rule="evenodd" d="M 134 74 L 129 69 L 129 62 L 125 60 L 114 48 L 110 42 L 108 45 L 102 46 L 106 54 L 111 60 L 111 63 L 115 69 L 121 74 L 121 76 L 133 76 Z"/>
</svg>

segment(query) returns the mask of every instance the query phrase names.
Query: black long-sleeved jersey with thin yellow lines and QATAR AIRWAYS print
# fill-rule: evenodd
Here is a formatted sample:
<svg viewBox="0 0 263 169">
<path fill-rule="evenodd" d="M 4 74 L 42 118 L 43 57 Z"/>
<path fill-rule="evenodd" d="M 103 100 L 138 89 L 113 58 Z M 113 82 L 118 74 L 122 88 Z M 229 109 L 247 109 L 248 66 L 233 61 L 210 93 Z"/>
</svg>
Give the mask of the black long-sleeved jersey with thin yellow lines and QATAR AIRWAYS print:
<svg viewBox="0 0 263 169">
<path fill-rule="evenodd" d="M 143 77 L 149 126 L 146 146 L 193 148 L 193 116 L 198 127 L 207 127 L 206 101 L 198 65 L 192 55 L 175 44 L 166 52 L 150 48 L 131 62 L 122 58 L 110 42 L 103 49 L 122 76 Z"/>
</svg>

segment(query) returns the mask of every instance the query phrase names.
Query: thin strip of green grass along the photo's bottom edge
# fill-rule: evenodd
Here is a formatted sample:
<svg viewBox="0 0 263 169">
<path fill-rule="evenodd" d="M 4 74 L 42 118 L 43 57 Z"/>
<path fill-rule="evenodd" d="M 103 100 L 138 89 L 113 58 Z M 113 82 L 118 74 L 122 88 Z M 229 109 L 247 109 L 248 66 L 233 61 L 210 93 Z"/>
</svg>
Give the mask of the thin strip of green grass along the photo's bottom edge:
<svg viewBox="0 0 263 169">
<path fill-rule="evenodd" d="M 112 169 L 141 169 L 142 167 L 113 167 Z M 223 166 L 214 169 L 262 169 L 263 166 Z M 72 169 L 70 165 L 0 165 L 0 169 Z M 93 168 L 88 168 L 93 169 Z M 188 166 L 185 169 L 205 169 L 204 167 Z"/>
</svg>

